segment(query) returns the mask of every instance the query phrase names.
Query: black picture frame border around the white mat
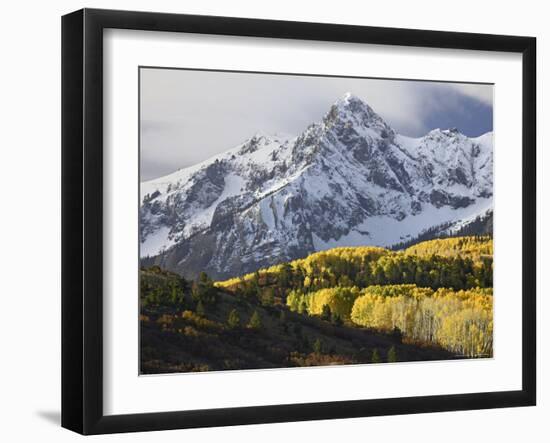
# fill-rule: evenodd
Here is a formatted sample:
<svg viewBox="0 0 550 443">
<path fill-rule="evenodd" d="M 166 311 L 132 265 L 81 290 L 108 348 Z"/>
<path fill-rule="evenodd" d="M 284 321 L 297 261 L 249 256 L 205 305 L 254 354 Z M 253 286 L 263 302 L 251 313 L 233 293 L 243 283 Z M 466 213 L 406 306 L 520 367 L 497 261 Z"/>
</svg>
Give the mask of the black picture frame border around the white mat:
<svg viewBox="0 0 550 443">
<path fill-rule="evenodd" d="M 130 415 L 103 412 L 103 30 L 519 53 L 523 64 L 522 389 Z M 458 411 L 536 403 L 536 39 L 83 9 L 62 18 L 62 426 L 82 434 Z"/>
</svg>

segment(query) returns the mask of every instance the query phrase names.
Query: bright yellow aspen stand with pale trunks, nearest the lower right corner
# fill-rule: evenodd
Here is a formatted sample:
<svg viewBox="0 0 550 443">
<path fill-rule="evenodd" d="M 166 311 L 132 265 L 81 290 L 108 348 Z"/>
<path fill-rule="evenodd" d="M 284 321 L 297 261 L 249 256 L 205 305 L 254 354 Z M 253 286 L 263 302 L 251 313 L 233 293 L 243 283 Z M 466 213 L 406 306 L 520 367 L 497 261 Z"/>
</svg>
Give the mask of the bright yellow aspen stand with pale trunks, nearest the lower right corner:
<svg viewBox="0 0 550 443">
<path fill-rule="evenodd" d="M 434 292 L 397 286 L 366 288 L 353 305 L 352 321 L 383 331 L 397 328 L 412 342 L 438 344 L 468 357 L 492 355 L 492 289 Z"/>
</svg>

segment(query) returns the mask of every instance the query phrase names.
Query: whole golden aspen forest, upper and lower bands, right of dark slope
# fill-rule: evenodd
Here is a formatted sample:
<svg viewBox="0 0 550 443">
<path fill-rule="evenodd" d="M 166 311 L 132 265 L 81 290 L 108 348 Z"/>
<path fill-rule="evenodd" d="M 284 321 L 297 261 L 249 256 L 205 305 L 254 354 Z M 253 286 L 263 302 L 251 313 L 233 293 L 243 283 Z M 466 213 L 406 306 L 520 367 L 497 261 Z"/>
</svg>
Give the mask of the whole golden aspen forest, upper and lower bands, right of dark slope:
<svg viewBox="0 0 550 443">
<path fill-rule="evenodd" d="M 491 356 L 493 241 L 429 240 L 404 251 L 343 247 L 317 252 L 216 285 L 236 294 L 269 288 L 290 310 Z M 329 309 L 330 308 L 330 309 Z"/>
</svg>

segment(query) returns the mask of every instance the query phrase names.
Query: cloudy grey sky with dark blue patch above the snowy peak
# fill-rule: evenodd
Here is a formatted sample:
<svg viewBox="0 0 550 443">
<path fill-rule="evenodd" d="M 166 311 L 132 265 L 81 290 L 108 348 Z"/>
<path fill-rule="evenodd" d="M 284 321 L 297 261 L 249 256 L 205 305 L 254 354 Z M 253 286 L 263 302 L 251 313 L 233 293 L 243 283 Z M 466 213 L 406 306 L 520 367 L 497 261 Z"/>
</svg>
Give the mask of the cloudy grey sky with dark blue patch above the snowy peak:
<svg viewBox="0 0 550 443">
<path fill-rule="evenodd" d="M 298 135 L 346 92 L 397 132 L 493 129 L 493 87 L 459 83 L 141 69 L 141 181 L 193 165 L 257 132 Z"/>
</svg>

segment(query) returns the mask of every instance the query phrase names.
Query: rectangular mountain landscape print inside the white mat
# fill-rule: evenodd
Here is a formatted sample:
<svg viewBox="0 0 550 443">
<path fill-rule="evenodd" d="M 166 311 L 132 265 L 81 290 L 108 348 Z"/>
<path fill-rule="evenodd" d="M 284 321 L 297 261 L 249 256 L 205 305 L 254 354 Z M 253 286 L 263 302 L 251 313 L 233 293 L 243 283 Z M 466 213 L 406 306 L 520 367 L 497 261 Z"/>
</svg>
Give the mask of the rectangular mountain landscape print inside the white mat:
<svg viewBox="0 0 550 443">
<path fill-rule="evenodd" d="M 140 373 L 493 356 L 493 85 L 139 68 Z"/>
</svg>

